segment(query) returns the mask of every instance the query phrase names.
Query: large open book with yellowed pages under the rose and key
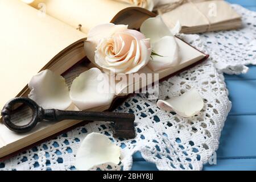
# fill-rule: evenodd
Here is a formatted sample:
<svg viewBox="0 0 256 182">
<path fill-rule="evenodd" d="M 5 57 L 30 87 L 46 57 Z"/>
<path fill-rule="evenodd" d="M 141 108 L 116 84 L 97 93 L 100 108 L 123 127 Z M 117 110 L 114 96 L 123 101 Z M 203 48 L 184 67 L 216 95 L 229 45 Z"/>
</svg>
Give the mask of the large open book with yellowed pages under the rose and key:
<svg viewBox="0 0 256 182">
<path fill-rule="evenodd" d="M 11 98 L 27 97 L 30 78 L 44 69 L 63 75 L 67 84 L 70 84 L 80 73 L 96 67 L 84 61 L 86 33 L 96 24 L 129 24 L 129 28 L 138 29 L 144 20 L 155 16 L 145 9 L 111 0 L 42 0 L 35 1 L 32 6 L 19 0 L 0 0 L 0 84 L 5 88 L 1 90 L 1 108 Z M 46 14 L 41 10 L 44 6 L 47 7 Z M 181 57 L 179 65 L 158 72 L 146 66 L 140 72 L 159 73 L 160 80 L 208 57 L 178 38 L 177 44 Z M 104 111 L 109 107 L 102 106 L 93 110 Z M 24 109 L 16 113 L 14 119 L 24 122 L 30 114 Z M 26 134 L 13 133 L 1 122 L 0 158 L 79 122 L 40 123 Z"/>
</svg>

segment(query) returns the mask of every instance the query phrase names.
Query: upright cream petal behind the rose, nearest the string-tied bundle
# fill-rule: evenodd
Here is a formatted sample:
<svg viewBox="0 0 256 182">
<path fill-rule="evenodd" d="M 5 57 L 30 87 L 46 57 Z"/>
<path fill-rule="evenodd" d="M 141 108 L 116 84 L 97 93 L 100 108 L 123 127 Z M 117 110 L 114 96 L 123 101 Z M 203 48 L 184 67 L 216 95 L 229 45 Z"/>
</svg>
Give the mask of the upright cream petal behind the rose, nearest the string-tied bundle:
<svg viewBox="0 0 256 182">
<path fill-rule="evenodd" d="M 172 36 L 160 15 L 146 19 L 141 25 L 141 32 L 150 39 L 151 44 L 158 42 L 164 36 Z"/>
</svg>

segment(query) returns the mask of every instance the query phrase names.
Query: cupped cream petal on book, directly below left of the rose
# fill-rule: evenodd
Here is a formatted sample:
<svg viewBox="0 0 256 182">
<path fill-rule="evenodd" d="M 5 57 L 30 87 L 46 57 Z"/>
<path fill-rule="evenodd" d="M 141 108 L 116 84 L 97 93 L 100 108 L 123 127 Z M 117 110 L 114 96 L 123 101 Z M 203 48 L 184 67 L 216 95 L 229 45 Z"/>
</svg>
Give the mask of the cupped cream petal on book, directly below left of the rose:
<svg viewBox="0 0 256 182">
<path fill-rule="evenodd" d="M 70 89 L 71 100 L 80 110 L 111 104 L 113 93 L 107 75 L 98 68 L 81 73 Z"/>
</svg>

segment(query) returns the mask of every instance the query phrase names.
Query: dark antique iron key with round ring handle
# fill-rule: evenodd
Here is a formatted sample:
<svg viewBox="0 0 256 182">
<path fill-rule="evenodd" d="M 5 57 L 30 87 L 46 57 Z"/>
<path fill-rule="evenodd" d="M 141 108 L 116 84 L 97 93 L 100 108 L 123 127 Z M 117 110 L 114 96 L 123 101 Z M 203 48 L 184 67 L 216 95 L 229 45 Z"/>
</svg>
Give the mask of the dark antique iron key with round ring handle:
<svg viewBox="0 0 256 182">
<path fill-rule="evenodd" d="M 11 122 L 12 109 L 15 104 L 24 104 L 32 110 L 31 121 L 26 125 L 19 126 Z M 26 97 L 17 97 L 7 102 L 2 110 L 3 123 L 16 133 L 27 133 L 34 129 L 38 122 L 53 121 L 59 122 L 65 119 L 73 119 L 78 121 L 110 121 L 114 122 L 114 137 L 134 138 L 134 114 L 127 113 L 111 113 L 96 111 L 66 111 L 57 109 L 43 109 L 35 101 Z"/>
</svg>

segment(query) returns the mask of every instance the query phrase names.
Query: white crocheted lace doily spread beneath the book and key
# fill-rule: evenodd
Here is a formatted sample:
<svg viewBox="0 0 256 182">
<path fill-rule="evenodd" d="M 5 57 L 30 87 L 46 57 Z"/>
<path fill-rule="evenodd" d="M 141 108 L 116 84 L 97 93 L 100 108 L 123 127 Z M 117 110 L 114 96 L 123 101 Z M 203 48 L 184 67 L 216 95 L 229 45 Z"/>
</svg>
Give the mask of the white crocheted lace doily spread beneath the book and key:
<svg viewBox="0 0 256 182">
<path fill-rule="evenodd" d="M 199 115 L 182 118 L 160 110 L 156 101 L 137 94 L 117 111 L 134 113 L 137 137 L 132 140 L 112 138 L 110 123 L 95 122 L 40 144 L 0 163 L 3 170 L 73 170 L 80 142 L 90 132 L 105 135 L 121 146 L 122 164 L 100 169 L 131 169 L 132 155 L 140 151 L 143 158 L 160 170 L 200 170 L 218 148 L 222 127 L 231 102 L 223 72 L 240 74 L 247 64 L 256 64 L 256 13 L 233 5 L 243 16 L 243 28 L 237 31 L 180 35 L 187 42 L 210 55 L 210 59 L 160 84 L 160 98 L 177 96 L 196 88 L 205 106 Z"/>
</svg>

